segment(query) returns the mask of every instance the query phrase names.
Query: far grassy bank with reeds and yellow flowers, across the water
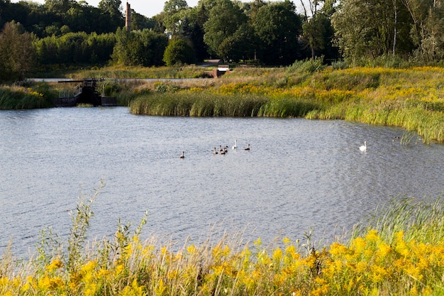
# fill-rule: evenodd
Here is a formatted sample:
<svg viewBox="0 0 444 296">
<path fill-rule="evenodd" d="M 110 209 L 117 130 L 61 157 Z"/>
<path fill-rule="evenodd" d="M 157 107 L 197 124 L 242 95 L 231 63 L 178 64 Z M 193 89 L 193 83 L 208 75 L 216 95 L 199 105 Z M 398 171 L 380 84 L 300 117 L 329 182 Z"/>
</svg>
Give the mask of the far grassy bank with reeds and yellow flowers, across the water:
<svg viewBox="0 0 444 296">
<path fill-rule="evenodd" d="M 444 69 L 235 69 L 212 83 L 138 85 L 133 114 L 345 119 L 444 141 Z M 144 89 L 143 92 L 139 92 Z"/>
</svg>

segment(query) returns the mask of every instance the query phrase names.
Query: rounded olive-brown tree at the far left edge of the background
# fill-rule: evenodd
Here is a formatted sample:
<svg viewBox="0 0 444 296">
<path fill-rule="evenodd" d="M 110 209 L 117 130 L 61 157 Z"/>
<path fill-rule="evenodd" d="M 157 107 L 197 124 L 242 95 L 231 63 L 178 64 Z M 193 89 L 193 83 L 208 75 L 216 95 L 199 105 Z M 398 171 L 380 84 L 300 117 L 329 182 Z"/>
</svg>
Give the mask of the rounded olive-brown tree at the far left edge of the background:
<svg viewBox="0 0 444 296">
<path fill-rule="evenodd" d="M 34 66 L 30 33 L 20 23 L 6 23 L 0 33 L 0 80 L 23 80 Z"/>
</svg>

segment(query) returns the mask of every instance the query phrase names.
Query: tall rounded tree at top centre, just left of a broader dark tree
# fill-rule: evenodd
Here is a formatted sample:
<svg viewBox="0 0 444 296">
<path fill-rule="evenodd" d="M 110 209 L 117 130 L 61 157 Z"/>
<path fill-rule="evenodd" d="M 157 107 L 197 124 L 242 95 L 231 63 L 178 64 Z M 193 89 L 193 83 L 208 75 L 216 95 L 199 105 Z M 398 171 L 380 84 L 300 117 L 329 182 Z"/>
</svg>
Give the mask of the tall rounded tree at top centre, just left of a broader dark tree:
<svg viewBox="0 0 444 296">
<path fill-rule="evenodd" d="M 221 46 L 232 38 L 238 28 L 248 21 L 240 7 L 230 0 L 217 0 L 204 23 L 204 42 L 212 54 L 227 59 L 230 48 Z"/>
</svg>

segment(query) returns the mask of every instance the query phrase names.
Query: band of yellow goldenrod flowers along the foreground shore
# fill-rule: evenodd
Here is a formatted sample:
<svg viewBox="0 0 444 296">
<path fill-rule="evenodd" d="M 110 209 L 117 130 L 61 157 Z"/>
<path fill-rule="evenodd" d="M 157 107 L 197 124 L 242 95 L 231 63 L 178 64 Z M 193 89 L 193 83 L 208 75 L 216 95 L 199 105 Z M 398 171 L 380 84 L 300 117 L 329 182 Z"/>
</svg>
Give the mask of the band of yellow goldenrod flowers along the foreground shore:
<svg viewBox="0 0 444 296">
<path fill-rule="evenodd" d="M 254 248 L 221 241 L 172 252 L 134 236 L 109 261 L 70 271 L 55 258 L 2 276 L 0 295 L 432 295 L 443 285 L 444 241 L 406 241 L 400 231 L 388 243 L 371 230 L 307 252 L 287 238 L 272 250 L 258 239 Z"/>
</svg>

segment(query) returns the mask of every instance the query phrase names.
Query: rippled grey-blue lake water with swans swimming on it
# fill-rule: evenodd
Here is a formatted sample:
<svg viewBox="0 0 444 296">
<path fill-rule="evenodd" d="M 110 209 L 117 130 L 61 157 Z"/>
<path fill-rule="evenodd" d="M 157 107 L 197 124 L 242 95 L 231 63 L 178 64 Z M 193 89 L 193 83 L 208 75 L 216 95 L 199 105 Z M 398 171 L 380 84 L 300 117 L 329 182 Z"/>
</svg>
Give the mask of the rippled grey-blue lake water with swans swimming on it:
<svg viewBox="0 0 444 296">
<path fill-rule="evenodd" d="M 311 228 L 315 239 L 333 239 L 394 197 L 443 194 L 444 146 L 392 140 L 403 133 L 347 121 L 135 116 L 124 107 L 0 111 L 0 255 L 11 238 L 16 255 L 35 251 L 46 227 L 66 237 L 77 197 L 100 180 L 91 239 L 112 236 L 119 218 L 136 226 L 146 210 L 145 236 L 174 241 L 199 243 L 214 225 L 264 243 L 304 239 Z M 213 155 L 220 145 L 228 153 Z"/>
</svg>

